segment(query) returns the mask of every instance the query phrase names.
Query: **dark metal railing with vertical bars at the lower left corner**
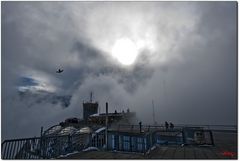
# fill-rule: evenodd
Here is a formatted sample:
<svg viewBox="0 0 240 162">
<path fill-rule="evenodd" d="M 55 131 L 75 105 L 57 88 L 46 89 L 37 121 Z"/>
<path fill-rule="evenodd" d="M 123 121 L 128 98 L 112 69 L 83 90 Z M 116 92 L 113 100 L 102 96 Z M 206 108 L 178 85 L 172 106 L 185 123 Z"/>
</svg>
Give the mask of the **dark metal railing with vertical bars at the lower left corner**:
<svg viewBox="0 0 240 162">
<path fill-rule="evenodd" d="M 50 159 L 81 151 L 89 146 L 89 134 L 34 137 L 5 140 L 2 159 Z"/>
</svg>

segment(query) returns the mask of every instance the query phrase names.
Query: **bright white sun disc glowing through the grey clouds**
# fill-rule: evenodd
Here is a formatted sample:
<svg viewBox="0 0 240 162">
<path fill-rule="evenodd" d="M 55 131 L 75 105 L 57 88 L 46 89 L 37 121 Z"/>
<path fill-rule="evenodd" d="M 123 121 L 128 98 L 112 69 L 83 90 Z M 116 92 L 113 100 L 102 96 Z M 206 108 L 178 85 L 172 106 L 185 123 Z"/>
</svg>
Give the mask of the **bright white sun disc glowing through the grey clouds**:
<svg viewBox="0 0 240 162">
<path fill-rule="evenodd" d="M 112 48 L 112 55 L 123 65 L 134 63 L 138 50 L 135 43 L 129 38 L 118 39 Z"/>
</svg>

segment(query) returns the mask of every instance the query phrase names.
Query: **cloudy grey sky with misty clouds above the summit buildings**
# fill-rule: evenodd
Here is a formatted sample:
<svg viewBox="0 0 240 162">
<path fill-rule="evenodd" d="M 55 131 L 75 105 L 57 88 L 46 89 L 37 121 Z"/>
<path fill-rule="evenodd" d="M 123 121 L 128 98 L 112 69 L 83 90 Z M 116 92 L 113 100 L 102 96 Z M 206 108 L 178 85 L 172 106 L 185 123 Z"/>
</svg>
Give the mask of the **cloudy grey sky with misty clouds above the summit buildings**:
<svg viewBox="0 0 240 162">
<path fill-rule="evenodd" d="M 82 118 L 236 124 L 237 2 L 2 2 L 2 139 Z M 62 73 L 56 73 L 61 68 Z"/>
</svg>

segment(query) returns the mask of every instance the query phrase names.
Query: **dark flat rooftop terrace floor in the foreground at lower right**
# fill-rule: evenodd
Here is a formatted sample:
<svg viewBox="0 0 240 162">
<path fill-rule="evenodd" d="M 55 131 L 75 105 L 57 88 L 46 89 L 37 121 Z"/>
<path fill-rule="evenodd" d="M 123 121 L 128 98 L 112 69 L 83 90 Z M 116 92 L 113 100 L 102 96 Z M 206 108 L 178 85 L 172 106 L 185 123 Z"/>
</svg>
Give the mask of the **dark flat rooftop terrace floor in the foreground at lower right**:
<svg viewBox="0 0 240 162">
<path fill-rule="evenodd" d="M 213 132 L 215 146 L 161 145 L 149 154 L 114 151 L 79 152 L 61 159 L 237 159 L 237 133 Z"/>
</svg>

